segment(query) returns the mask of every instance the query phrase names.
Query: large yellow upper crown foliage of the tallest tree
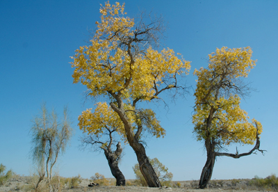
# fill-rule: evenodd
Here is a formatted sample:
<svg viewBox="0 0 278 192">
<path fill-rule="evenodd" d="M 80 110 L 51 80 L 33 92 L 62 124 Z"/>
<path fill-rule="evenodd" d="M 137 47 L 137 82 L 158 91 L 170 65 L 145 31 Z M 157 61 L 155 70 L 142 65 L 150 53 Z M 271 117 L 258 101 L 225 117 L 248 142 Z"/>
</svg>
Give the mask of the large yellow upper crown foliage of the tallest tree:
<svg viewBox="0 0 278 192">
<path fill-rule="evenodd" d="M 89 47 L 76 50 L 72 57 L 75 68 L 74 83 L 81 82 L 90 95 L 106 95 L 108 91 L 116 93 L 121 90 L 126 98 L 154 97 L 154 84 L 161 86 L 163 78 L 187 73 L 190 62 L 175 56 L 172 49 L 158 52 L 149 47 L 145 53 L 134 55 L 134 62 L 124 48 L 120 39 L 133 37 L 133 19 L 124 16 L 124 4 L 106 3 L 100 9 L 101 22 L 97 22 L 97 31 Z M 117 33 L 117 35 L 115 35 Z M 129 84 L 127 79 L 131 79 Z"/>
</svg>

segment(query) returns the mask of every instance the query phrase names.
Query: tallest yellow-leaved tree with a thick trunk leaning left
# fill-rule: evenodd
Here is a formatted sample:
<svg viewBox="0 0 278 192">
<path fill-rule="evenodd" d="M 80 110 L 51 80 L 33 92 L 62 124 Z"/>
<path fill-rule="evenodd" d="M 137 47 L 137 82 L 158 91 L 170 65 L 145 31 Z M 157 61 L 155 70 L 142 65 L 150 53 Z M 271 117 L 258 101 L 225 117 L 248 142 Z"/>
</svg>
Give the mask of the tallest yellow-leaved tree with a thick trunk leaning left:
<svg viewBox="0 0 278 192">
<path fill-rule="evenodd" d="M 88 96 L 106 96 L 111 108 L 124 124 L 124 134 L 136 153 L 148 186 L 161 186 L 142 145 L 144 131 L 156 137 L 165 135 L 152 109 L 142 109 L 139 102 L 159 99 L 165 90 L 181 88 L 177 76 L 187 74 L 190 62 L 172 49 L 154 49 L 163 24 L 150 18 L 149 24 L 126 17 L 124 4 L 101 6 L 101 21 L 90 46 L 80 47 L 72 57 L 74 83 L 88 88 Z"/>
</svg>

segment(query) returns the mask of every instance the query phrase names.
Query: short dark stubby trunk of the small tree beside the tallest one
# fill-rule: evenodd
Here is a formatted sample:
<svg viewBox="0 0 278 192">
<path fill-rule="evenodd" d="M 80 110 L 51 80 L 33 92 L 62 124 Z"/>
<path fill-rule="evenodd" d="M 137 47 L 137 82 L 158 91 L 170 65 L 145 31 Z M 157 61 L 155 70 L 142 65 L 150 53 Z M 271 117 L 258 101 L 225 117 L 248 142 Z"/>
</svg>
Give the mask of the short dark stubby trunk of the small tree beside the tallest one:
<svg viewBox="0 0 278 192">
<path fill-rule="evenodd" d="M 117 143 L 117 150 L 115 150 L 115 152 L 111 152 L 111 150 L 104 150 L 104 154 L 108 161 L 111 173 L 116 179 L 116 186 L 125 186 L 126 179 L 119 168 L 120 154 L 122 154 L 121 143 Z"/>
</svg>

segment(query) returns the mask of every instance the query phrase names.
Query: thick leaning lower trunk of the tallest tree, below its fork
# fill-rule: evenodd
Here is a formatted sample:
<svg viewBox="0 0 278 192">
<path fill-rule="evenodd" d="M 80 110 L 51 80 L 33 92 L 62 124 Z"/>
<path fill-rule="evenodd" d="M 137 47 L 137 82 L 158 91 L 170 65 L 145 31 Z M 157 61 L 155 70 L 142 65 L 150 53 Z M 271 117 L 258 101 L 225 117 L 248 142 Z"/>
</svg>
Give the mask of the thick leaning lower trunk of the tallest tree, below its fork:
<svg viewBox="0 0 278 192">
<path fill-rule="evenodd" d="M 145 147 L 136 141 L 136 145 L 133 147 L 133 150 L 136 152 L 140 171 L 145 178 L 147 185 L 149 187 L 161 187 L 161 182 L 159 181 L 152 164 L 149 163 Z"/>
</svg>

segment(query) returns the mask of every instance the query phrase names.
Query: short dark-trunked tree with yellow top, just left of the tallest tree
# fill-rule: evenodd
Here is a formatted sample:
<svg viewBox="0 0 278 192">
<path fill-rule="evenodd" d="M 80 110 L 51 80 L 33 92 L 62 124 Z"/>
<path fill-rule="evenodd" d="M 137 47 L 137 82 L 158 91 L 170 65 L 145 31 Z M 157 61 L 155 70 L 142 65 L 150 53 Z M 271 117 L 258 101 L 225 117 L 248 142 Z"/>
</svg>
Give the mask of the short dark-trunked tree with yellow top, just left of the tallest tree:
<svg viewBox="0 0 278 192">
<path fill-rule="evenodd" d="M 79 115 L 79 128 L 83 130 L 83 133 L 88 133 L 87 136 L 81 138 L 81 146 L 85 148 L 90 145 L 95 150 L 104 150 L 111 173 L 117 179 L 116 185 L 125 185 L 124 175 L 118 166 L 122 158 L 122 147 L 119 140 L 122 138 L 126 141 L 124 124 L 120 121 L 119 115 L 106 102 L 97 103 L 94 113 L 91 110 L 87 109 L 83 111 L 82 115 Z M 120 135 L 120 138 L 116 133 Z"/>
</svg>

